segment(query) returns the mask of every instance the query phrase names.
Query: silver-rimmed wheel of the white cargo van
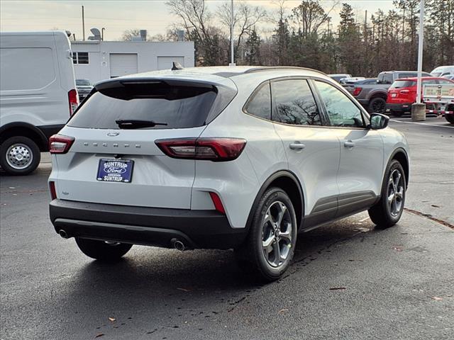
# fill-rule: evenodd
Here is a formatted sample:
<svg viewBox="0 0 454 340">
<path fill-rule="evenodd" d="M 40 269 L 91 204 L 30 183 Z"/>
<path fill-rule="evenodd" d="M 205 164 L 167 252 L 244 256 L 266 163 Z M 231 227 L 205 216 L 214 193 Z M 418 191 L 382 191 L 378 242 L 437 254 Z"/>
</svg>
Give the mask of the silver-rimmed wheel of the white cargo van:
<svg viewBox="0 0 454 340">
<path fill-rule="evenodd" d="M 40 149 L 30 138 L 10 137 L 1 144 L 0 165 L 10 175 L 30 174 L 40 160 Z"/>
</svg>

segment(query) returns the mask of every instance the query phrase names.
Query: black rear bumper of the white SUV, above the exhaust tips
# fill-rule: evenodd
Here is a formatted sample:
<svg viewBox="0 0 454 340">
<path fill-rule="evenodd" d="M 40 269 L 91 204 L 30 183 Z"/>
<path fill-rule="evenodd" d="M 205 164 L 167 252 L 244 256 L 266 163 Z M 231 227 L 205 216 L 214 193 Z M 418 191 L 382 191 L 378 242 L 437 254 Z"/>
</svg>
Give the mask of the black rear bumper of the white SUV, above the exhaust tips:
<svg viewBox="0 0 454 340">
<path fill-rule="evenodd" d="M 189 249 L 230 249 L 243 243 L 247 230 L 233 229 L 216 210 L 131 207 L 52 200 L 55 232 L 69 237 L 172 247 L 176 239 Z"/>
</svg>

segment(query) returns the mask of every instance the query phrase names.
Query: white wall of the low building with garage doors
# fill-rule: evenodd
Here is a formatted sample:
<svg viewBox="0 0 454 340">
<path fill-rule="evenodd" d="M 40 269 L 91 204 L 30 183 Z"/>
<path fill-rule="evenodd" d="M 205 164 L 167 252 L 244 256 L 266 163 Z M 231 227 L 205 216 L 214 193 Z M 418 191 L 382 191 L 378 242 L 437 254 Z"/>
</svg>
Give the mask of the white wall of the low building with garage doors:
<svg viewBox="0 0 454 340">
<path fill-rule="evenodd" d="M 138 72 L 158 69 L 158 57 L 180 57 L 184 67 L 194 67 L 194 42 L 130 42 L 130 41 L 75 41 L 72 52 L 89 52 L 88 64 L 74 64 L 76 78 L 89 79 L 92 83 L 111 78 L 111 53 L 137 53 Z M 181 58 L 182 57 L 182 58 Z M 162 60 L 172 58 L 161 58 Z"/>
</svg>

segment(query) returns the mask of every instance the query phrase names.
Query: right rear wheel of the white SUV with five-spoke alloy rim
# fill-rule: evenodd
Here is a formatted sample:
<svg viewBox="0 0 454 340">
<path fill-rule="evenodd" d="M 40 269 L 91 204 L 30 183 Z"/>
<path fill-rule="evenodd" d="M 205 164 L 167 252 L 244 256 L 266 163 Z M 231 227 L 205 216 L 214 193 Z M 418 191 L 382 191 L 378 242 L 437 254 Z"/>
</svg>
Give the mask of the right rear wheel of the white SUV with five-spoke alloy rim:
<svg viewBox="0 0 454 340">
<path fill-rule="evenodd" d="M 262 196 L 245 243 L 236 249 L 242 268 L 266 281 L 277 280 L 287 270 L 297 243 L 297 217 L 292 201 L 281 188 Z"/>
</svg>

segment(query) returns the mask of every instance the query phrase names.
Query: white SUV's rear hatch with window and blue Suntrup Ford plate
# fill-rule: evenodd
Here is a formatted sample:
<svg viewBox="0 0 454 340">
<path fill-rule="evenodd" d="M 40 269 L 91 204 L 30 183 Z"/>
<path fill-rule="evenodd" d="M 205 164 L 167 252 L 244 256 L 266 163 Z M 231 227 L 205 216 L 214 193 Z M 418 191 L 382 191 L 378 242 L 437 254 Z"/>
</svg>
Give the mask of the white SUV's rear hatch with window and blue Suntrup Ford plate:
<svg viewBox="0 0 454 340">
<path fill-rule="evenodd" d="M 168 157 L 155 141 L 199 137 L 236 95 L 229 79 L 204 78 L 211 81 L 122 78 L 96 85 L 60 131 L 74 142 L 54 157 L 57 197 L 189 209 L 195 161 Z"/>
</svg>

